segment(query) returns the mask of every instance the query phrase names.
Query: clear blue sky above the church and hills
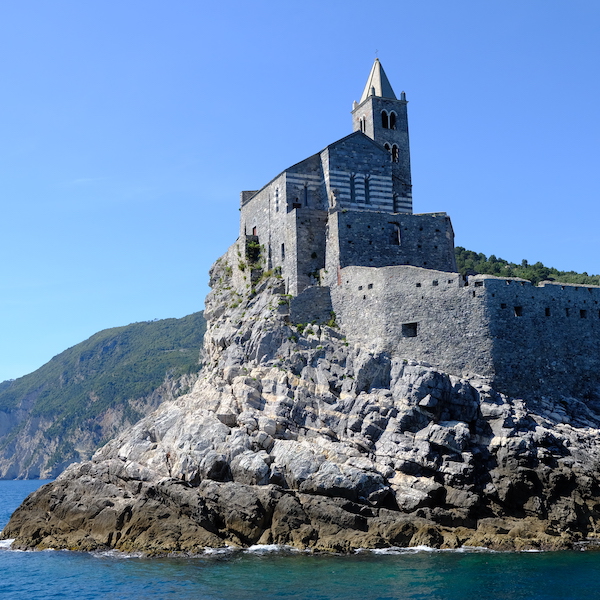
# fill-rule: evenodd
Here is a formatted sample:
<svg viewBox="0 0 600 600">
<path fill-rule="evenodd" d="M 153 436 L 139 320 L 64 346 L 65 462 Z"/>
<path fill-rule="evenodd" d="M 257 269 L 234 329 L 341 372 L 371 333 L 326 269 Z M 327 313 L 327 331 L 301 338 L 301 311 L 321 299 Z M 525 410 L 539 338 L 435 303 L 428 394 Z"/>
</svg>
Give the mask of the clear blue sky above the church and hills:
<svg viewBox="0 0 600 600">
<path fill-rule="evenodd" d="M 600 272 L 597 0 L 4 0 L 0 381 L 201 310 L 239 192 L 350 133 L 376 51 L 416 212 Z"/>
</svg>

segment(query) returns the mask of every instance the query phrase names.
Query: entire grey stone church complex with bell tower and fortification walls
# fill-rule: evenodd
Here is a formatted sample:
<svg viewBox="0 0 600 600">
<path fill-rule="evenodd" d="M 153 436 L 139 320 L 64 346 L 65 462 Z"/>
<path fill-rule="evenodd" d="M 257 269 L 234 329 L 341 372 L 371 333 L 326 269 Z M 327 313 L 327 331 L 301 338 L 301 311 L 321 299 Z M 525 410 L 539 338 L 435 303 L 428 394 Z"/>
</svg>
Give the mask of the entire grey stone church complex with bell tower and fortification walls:
<svg viewBox="0 0 600 600">
<path fill-rule="evenodd" d="M 376 61 L 354 133 L 242 192 L 240 240 L 280 270 L 292 322 L 513 394 L 600 400 L 600 288 L 456 273 L 445 213 L 412 213 L 406 97 Z M 252 237 L 256 236 L 256 237 Z"/>
</svg>

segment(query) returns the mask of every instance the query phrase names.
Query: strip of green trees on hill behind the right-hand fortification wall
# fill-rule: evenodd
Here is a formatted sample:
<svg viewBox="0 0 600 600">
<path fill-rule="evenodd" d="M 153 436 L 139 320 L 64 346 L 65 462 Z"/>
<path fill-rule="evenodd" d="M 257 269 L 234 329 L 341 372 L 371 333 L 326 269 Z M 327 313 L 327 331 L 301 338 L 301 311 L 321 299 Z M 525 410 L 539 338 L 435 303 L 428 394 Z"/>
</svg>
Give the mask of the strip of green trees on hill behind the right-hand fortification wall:
<svg viewBox="0 0 600 600">
<path fill-rule="evenodd" d="M 503 258 L 496 258 L 493 254 L 488 258 L 485 254 L 466 250 L 457 246 L 456 265 L 462 275 L 482 273 L 497 275 L 498 277 L 521 277 L 529 279 L 534 285 L 540 281 L 559 281 L 561 283 L 581 283 L 583 285 L 600 285 L 600 275 L 588 275 L 575 271 L 559 271 L 546 267 L 541 262 L 530 265 L 526 260 L 521 264 L 508 262 Z"/>
</svg>

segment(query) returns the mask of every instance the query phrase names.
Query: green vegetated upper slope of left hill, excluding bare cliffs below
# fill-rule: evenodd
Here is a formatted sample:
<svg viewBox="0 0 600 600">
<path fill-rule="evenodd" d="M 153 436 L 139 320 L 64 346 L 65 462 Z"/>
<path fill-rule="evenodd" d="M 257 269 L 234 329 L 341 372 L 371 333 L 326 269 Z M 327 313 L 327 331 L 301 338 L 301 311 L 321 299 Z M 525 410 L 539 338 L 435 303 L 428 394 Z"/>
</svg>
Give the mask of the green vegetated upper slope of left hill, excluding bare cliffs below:
<svg viewBox="0 0 600 600">
<path fill-rule="evenodd" d="M 95 428 L 93 437 L 102 441 L 98 415 L 118 408 L 134 422 L 142 415 L 131 401 L 151 394 L 166 377 L 197 372 L 205 331 L 202 312 L 100 331 L 37 371 L 0 383 L 0 411 L 25 412 L 27 422 L 37 417 L 52 421 L 43 435 L 60 440 L 53 460 L 64 460 L 74 454 L 69 441 L 74 432 Z M 10 449 L 21 428 L 0 437 L 0 451 Z"/>
</svg>

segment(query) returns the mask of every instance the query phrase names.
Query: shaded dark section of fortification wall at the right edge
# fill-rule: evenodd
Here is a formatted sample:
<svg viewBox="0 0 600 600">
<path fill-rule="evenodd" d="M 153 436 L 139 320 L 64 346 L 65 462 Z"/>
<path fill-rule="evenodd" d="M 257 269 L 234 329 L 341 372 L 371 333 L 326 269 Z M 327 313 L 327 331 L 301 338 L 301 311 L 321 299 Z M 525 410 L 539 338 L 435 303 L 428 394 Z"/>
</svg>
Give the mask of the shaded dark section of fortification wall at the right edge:
<svg viewBox="0 0 600 600">
<path fill-rule="evenodd" d="M 469 283 L 485 291 L 500 389 L 600 400 L 599 287 L 489 276 Z"/>
</svg>

